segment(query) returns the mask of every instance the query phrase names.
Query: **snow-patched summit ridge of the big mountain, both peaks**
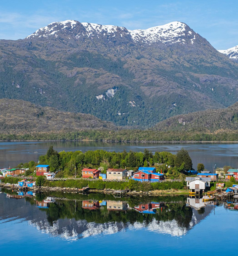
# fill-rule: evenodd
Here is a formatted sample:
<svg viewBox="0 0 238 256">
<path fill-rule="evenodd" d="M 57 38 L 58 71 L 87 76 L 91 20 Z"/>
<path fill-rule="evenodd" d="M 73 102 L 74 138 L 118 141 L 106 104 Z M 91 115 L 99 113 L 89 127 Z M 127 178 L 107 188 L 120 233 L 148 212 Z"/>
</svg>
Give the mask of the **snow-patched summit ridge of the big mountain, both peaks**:
<svg viewBox="0 0 238 256">
<path fill-rule="evenodd" d="M 32 38 L 58 38 L 62 33 L 68 35 L 68 39 L 80 39 L 88 37 L 91 40 L 104 39 L 110 41 L 111 38 L 125 38 L 134 43 L 156 43 L 165 44 L 181 43 L 193 44 L 197 33 L 190 29 L 185 23 L 171 22 L 163 26 L 151 27 L 149 29 L 128 30 L 125 27 L 112 25 L 99 25 L 76 20 L 65 20 L 53 22 L 46 27 L 38 29 L 36 32 L 27 36 Z"/>
</svg>

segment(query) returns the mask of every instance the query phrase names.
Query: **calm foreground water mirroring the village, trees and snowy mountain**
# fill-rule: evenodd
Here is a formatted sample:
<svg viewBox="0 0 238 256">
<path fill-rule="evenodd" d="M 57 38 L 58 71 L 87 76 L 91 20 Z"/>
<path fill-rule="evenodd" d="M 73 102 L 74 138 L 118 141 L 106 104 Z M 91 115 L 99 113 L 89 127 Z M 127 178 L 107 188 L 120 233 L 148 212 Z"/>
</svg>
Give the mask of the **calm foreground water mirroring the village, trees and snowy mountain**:
<svg viewBox="0 0 238 256">
<path fill-rule="evenodd" d="M 118 200 L 2 190 L 0 230 L 2 255 L 219 256 L 235 248 L 238 211 L 184 196 Z"/>
</svg>

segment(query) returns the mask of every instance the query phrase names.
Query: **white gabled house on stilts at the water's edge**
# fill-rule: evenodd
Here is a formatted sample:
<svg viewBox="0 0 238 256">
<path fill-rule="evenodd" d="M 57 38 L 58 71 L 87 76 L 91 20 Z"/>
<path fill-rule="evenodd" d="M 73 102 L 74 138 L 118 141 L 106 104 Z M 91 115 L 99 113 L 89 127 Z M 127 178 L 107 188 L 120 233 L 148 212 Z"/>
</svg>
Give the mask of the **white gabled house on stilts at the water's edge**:
<svg viewBox="0 0 238 256">
<path fill-rule="evenodd" d="M 191 189 L 191 192 L 205 191 L 210 187 L 210 177 L 186 177 L 187 187 Z"/>
</svg>

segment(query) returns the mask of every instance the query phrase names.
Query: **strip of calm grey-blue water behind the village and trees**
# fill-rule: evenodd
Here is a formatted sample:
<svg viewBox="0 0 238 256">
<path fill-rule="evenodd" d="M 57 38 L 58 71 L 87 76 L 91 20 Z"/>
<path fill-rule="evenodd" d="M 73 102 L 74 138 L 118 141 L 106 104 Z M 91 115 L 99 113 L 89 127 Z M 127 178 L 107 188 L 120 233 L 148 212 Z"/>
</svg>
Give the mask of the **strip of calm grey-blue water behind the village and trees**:
<svg viewBox="0 0 238 256">
<path fill-rule="evenodd" d="M 50 145 L 58 150 L 75 151 L 104 149 L 122 152 L 143 151 L 148 148 L 152 152 L 168 151 L 176 154 L 180 148 L 188 150 L 193 167 L 203 163 L 205 168 L 213 170 L 216 167 L 230 165 L 238 168 L 238 144 L 154 144 L 154 143 L 104 143 L 104 142 L 0 142 L 0 168 L 15 167 L 21 162 L 37 161 L 40 155 L 46 153 Z M 34 153 L 37 152 L 37 153 Z"/>
</svg>

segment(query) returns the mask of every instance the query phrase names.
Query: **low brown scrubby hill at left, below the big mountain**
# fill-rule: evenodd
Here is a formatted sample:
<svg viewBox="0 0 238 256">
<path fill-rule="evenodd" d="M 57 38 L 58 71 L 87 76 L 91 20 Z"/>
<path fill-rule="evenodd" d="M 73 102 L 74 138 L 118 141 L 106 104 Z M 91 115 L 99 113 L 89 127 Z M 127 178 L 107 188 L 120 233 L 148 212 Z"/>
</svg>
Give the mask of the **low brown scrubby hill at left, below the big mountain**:
<svg viewBox="0 0 238 256">
<path fill-rule="evenodd" d="M 67 113 L 30 102 L 0 99 L 0 133 L 68 132 L 114 129 L 115 125 L 90 114 Z"/>
</svg>

